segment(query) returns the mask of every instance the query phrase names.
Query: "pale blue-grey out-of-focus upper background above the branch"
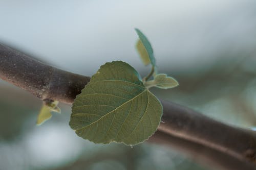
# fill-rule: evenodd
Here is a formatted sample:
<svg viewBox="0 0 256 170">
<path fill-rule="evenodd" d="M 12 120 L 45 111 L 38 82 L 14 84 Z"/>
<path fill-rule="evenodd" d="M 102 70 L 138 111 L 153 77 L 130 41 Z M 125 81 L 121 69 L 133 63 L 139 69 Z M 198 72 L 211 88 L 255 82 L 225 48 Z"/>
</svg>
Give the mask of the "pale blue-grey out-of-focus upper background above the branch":
<svg viewBox="0 0 256 170">
<path fill-rule="evenodd" d="M 139 28 L 152 42 L 159 66 L 197 70 L 216 60 L 211 55 L 216 51 L 228 48 L 236 54 L 241 48 L 254 49 L 255 4 L 248 0 L 1 0 L 0 41 L 90 76 L 113 60 L 145 70 L 134 48 L 134 28 Z"/>
</svg>

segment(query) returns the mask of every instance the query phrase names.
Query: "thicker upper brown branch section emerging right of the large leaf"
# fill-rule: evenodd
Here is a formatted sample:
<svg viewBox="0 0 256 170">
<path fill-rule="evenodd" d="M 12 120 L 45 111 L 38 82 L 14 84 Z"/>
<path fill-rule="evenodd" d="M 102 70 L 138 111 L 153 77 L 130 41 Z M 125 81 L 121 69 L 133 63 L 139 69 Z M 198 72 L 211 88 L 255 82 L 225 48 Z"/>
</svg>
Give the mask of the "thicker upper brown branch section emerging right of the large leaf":
<svg viewBox="0 0 256 170">
<path fill-rule="evenodd" d="M 163 123 L 158 130 L 255 163 L 255 132 L 225 125 L 171 102 L 161 102 Z"/>
</svg>

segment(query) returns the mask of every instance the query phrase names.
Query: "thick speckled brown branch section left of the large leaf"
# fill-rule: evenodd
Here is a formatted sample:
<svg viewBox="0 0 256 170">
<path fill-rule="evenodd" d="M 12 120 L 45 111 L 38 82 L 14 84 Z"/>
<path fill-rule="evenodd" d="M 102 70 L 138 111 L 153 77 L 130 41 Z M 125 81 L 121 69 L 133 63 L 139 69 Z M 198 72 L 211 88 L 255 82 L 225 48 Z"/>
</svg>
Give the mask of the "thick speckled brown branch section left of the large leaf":
<svg viewBox="0 0 256 170">
<path fill-rule="evenodd" d="M 90 77 L 43 64 L 3 44 L 0 44 L 0 57 L 1 79 L 42 100 L 73 103 L 75 96 L 90 81 Z"/>
</svg>

